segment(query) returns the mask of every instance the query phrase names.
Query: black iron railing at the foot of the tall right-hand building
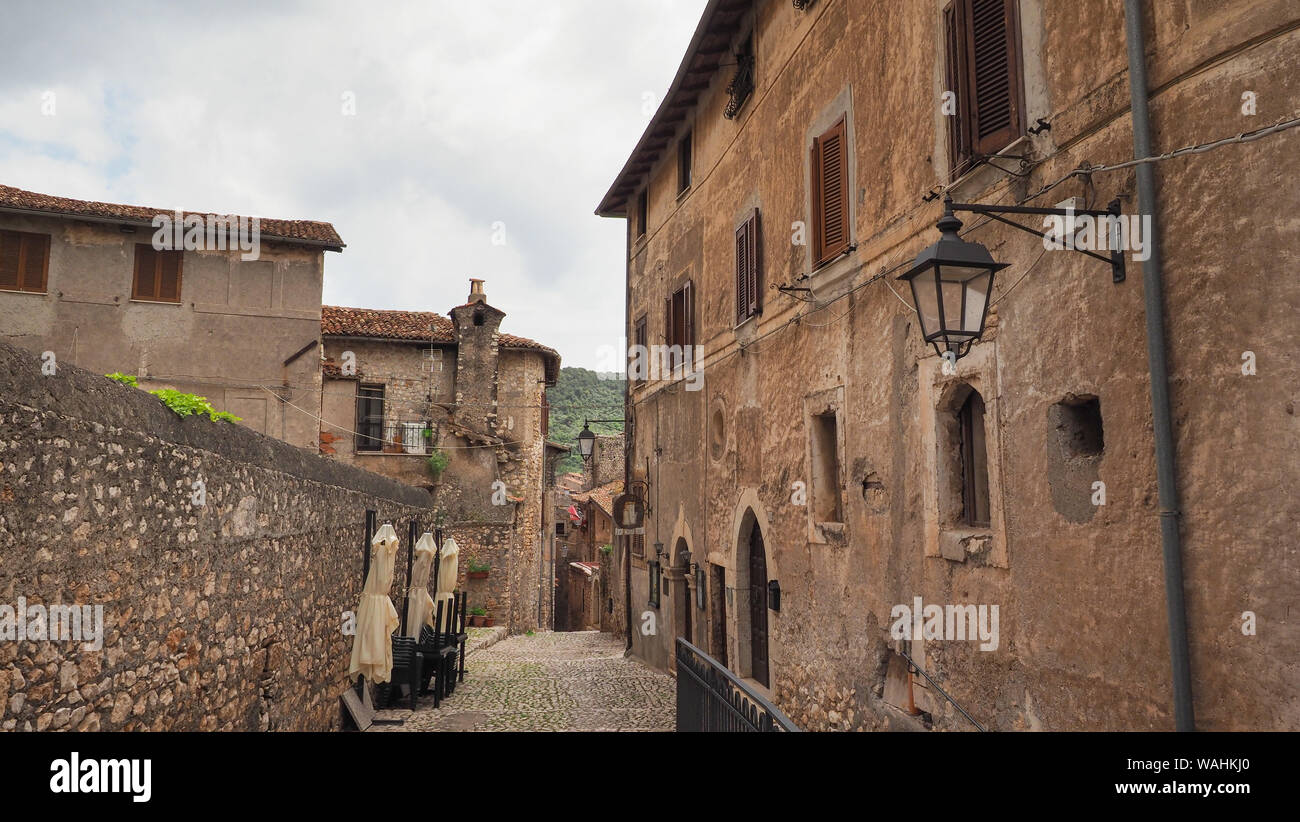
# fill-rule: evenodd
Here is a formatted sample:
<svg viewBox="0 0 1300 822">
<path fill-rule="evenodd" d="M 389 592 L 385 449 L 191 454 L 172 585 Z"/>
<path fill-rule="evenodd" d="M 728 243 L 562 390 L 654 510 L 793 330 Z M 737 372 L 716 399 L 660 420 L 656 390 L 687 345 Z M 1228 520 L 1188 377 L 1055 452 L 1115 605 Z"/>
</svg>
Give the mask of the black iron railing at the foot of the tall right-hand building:
<svg viewBox="0 0 1300 822">
<path fill-rule="evenodd" d="M 677 637 L 679 731 L 798 731 L 716 659 Z"/>
</svg>

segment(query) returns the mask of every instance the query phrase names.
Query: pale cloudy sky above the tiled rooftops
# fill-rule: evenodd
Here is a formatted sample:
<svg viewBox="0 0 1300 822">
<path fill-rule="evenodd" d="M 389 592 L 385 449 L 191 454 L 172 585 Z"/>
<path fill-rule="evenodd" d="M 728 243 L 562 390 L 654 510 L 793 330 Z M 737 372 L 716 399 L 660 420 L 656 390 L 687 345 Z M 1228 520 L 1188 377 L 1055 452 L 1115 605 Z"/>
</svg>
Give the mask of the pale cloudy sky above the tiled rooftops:
<svg viewBox="0 0 1300 822">
<path fill-rule="evenodd" d="M 359 5 L 5 0 L 0 183 L 329 221 L 326 303 L 445 313 L 482 277 L 504 330 L 607 368 L 623 221 L 592 212 L 705 0 Z"/>
</svg>

